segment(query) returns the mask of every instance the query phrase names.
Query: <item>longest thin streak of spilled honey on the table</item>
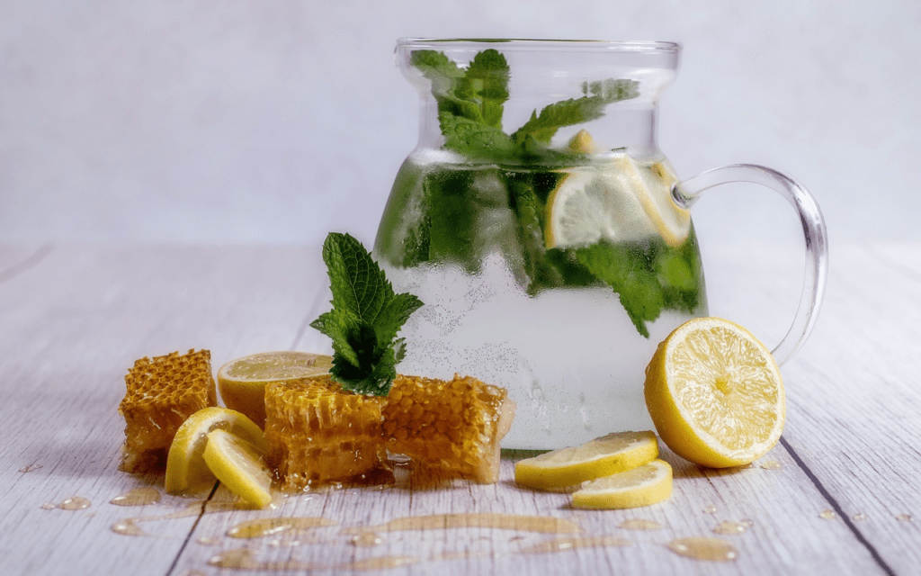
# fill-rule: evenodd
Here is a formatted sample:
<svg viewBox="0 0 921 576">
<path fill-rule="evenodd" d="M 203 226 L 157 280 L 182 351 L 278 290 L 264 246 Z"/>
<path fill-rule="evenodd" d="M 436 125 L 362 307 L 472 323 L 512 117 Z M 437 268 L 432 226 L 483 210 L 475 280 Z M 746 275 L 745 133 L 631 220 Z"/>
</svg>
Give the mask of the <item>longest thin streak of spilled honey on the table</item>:
<svg viewBox="0 0 921 576">
<path fill-rule="evenodd" d="M 361 535 L 367 532 L 395 532 L 398 530 L 445 530 L 449 528 L 495 528 L 543 534 L 577 534 L 582 528 L 562 518 L 552 516 L 519 516 L 492 512 L 467 514 L 432 514 L 406 516 L 377 526 L 345 528 L 344 534 Z"/>
</svg>

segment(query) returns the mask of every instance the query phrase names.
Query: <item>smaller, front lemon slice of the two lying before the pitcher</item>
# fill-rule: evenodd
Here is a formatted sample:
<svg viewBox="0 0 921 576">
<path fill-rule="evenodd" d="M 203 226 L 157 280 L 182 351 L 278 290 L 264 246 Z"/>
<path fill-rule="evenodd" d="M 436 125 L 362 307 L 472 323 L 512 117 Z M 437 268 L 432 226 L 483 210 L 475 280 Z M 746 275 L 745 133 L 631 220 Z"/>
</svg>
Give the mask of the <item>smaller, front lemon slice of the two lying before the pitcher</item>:
<svg viewBox="0 0 921 576">
<path fill-rule="evenodd" d="M 587 482 L 573 493 L 572 499 L 576 508 L 620 509 L 656 504 L 670 496 L 671 466 L 653 460 L 633 470 Z"/>
</svg>

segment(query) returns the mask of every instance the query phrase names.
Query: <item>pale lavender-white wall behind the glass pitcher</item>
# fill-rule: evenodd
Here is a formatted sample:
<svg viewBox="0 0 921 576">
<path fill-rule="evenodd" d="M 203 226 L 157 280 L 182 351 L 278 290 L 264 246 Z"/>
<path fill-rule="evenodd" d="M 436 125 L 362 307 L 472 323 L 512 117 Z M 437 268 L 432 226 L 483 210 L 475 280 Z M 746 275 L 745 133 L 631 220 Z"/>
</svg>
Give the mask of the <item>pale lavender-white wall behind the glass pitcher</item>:
<svg viewBox="0 0 921 576">
<path fill-rule="evenodd" d="M 833 253 L 921 240 L 916 0 L 0 6 L 3 242 L 372 241 L 416 138 L 402 36 L 681 41 L 659 131 L 680 175 L 787 172 L 822 205 Z M 701 241 L 796 241 L 768 194 L 710 193 Z"/>
</svg>

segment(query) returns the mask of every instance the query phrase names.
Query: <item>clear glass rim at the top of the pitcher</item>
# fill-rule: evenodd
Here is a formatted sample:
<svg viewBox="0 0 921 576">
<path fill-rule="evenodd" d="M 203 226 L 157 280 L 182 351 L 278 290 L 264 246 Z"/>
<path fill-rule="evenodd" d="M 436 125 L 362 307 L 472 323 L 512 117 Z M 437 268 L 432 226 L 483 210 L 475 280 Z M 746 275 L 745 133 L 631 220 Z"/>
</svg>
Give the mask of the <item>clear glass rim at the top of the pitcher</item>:
<svg viewBox="0 0 921 576">
<path fill-rule="evenodd" d="M 681 42 L 646 40 L 565 40 L 544 38 L 400 38 L 400 48 L 444 48 L 502 44 L 503 50 L 559 50 L 612 53 L 679 53 Z"/>
</svg>

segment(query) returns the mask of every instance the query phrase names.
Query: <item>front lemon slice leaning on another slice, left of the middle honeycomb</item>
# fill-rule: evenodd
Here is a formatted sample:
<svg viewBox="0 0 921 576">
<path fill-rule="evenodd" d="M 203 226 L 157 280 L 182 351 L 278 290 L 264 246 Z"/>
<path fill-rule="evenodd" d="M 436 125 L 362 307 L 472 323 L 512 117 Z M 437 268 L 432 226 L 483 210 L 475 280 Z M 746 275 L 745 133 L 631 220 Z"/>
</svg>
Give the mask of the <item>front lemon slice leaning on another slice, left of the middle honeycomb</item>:
<svg viewBox="0 0 921 576">
<path fill-rule="evenodd" d="M 265 465 L 264 448 L 217 429 L 208 433 L 204 462 L 241 499 L 260 508 L 272 502 L 272 471 Z"/>
</svg>

